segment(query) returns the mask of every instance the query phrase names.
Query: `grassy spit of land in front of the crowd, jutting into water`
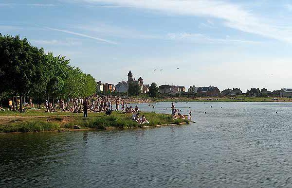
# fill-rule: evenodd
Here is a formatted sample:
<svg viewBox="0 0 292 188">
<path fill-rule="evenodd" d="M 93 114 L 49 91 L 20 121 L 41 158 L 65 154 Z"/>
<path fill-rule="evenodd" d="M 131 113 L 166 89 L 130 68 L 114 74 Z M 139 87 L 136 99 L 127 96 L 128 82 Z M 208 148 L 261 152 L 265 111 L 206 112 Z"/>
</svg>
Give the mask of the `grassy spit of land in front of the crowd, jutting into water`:
<svg viewBox="0 0 292 188">
<path fill-rule="evenodd" d="M 104 113 L 89 113 L 88 118 L 83 118 L 83 114 L 45 113 L 43 111 L 28 109 L 25 113 L 0 112 L 0 133 L 66 131 L 73 129 L 74 125 L 80 126 L 81 129 L 142 127 L 131 120 L 130 114 L 121 112 L 113 112 L 110 116 L 105 116 Z M 186 120 L 171 120 L 170 115 L 166 114 L 142 114 L 145 114 L 146 119 L 149 120 L 149 124 L 144 124 L 145 126 L 187 122 Z"/>
</svg>

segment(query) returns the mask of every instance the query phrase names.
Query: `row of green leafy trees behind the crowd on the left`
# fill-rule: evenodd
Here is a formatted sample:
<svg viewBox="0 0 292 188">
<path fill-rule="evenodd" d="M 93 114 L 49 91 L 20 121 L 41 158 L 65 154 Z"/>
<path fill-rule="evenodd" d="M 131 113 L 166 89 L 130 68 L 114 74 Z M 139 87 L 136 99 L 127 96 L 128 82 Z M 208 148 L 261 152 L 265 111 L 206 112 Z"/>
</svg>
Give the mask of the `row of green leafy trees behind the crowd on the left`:
<svg viewBox="0 0 292 188">
<path fill-rule="evenodd" d="M 21 112 L 24 96 L 40 104 L 94 94 L 95 79 L 69 63 L 64 56 L 45 54 L 19 35 L 0 34 L 0 100 L 19 96 Z"/>
</svg>

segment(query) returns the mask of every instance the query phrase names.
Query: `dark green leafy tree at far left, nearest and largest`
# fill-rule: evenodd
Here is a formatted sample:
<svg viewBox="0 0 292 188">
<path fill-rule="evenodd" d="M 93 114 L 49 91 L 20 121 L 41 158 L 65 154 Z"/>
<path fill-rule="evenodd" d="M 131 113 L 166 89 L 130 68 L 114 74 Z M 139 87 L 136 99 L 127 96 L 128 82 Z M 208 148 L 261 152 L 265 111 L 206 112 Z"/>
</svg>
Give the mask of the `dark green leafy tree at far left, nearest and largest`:
<svg viewBox="0 0 292 188">
<path fill-rule="evenodd" d="M 34 85 L 41 85 L 43 55 L 43 49 L 31 46 L 26 38 L 0 35 L 0 87 L 19 94 L 20 112 L 22 96 L 29 94 Z"/>
</svg>

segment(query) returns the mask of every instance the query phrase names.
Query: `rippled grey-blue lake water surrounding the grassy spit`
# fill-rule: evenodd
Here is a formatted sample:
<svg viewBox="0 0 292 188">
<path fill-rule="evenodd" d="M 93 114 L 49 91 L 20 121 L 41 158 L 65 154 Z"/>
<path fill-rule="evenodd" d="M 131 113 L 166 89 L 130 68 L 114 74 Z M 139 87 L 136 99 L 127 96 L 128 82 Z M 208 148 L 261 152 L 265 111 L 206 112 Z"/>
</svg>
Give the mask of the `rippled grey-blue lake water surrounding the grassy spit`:
<svg viewBox="0 0 292 188">
<path fill-rule="evenodd" d="M 175 105 L 197 123 L 2 134 L 0 187 L 292 187 L 292 103 Z"/>
</svg>

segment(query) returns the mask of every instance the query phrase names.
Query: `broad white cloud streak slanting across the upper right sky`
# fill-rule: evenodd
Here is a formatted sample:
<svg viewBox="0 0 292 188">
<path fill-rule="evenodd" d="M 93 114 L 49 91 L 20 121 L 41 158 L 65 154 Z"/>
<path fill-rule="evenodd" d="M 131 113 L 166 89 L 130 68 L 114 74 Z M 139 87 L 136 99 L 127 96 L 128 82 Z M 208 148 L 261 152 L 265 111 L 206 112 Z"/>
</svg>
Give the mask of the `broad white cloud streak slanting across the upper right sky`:
<svg viewBox="0 0 292 188">
<path fill-rule="evenodd" d="M 78 1 L 78 0 L 77 0 Z M 277 22 L 252 14 L 239 4 L 218 0 L 79 0 L 110 6 L 150 9 L 179 15 L 215 17 L 224 26 L 292 43 L 292 28 L 279 29 Z M 287 6 L 288 8 L 290 6 Z"/>
</svg>

